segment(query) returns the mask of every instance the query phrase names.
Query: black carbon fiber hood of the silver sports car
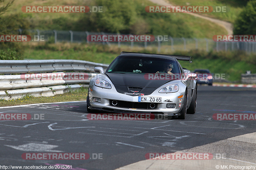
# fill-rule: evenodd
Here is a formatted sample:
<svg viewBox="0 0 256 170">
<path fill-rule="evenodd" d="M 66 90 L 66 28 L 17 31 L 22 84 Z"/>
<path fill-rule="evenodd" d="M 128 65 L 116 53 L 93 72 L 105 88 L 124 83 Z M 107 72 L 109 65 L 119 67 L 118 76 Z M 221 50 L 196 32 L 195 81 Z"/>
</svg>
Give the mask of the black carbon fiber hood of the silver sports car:
<svg viewBox="0 0 256 170">
<path fill-rule="evenodd" d="M 105 73 L 114 84 L 116 91 L 130 96 L 150 95 L 158 87 L 171 80 L 148 80 L 144 74 Z"/>
</svg>

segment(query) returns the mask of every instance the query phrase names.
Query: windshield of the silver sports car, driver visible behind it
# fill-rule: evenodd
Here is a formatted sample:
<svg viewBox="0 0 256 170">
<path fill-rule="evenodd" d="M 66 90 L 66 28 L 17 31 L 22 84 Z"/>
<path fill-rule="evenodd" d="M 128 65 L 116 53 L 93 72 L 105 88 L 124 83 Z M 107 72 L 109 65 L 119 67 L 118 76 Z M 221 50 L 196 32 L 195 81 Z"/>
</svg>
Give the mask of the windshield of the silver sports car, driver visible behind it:
<svg viewBox="0 0 256 170">
<path fill-rule="evenodd" d="M 178 64 L 174 60 L 141 57 L 141 56 L 120 56 L 109 66 L 107 73 L 180 73 Z"/>
</svg>

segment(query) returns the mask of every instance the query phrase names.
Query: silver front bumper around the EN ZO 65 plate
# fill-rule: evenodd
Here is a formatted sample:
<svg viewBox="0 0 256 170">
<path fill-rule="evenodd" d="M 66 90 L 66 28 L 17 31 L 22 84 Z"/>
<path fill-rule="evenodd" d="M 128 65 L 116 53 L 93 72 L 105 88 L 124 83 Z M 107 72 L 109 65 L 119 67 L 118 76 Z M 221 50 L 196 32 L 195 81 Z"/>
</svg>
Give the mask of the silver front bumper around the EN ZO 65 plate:
<svg viewBox="0 0 256 170">
<path fill-rule="evenodd" d="M 161 97 L 162 98 L 162 102 L 157 103 L 157 108 L 155 109 L 138 109 L 138 108 L 134 109 L 134 108 L 126 108 L 126 107 L 115 107 L 109 104 L 109 100 L 138 102 L 138 96 L 130 96 L 130 95 L 118 93 L 115 87 L 113 86 L 111 89 L 105 89 L 105 88 L 97 87 L 95 85 L 89 86 L 89 88 L 92 89 L 92 91 L 89 90 L 88 92 L 90 109 L 115 112 L 115 113 L 153 113 L 155 115 L 180 115 L 179 112 L 182 108 L 183 99 L 184 99 L 184 92 L 178 91 L 174 93 L 159 93 L 158 90 L 156 90 L 152 94 L 144 96 L 144 97 Z M 179 99 L 178 96 L 180 95 L 183 95 L 183 97 Z M 93 102 L 93 98 L 100 98 L 100 103 Z M 166 108 L 166 104 L 176 104 L 176 107 Z"/>
</svg>

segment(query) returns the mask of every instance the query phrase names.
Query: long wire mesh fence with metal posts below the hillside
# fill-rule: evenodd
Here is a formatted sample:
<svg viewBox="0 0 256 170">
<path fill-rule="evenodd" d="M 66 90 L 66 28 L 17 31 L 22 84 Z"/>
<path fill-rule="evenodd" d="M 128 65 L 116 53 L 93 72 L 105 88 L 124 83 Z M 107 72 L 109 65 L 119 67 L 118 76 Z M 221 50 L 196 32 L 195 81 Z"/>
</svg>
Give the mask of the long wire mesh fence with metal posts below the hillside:
<svg viewBox="0 0 256 170">
<path fill-rule="evenodd" d="M 120 35 L 117 33 L 103 33 L 103 32 L 87 32 L 87 31 L 56 31 L 56 30 L 29 30 L 31 35 L 37 37 L 43 36 L 44 41 L 57 42 L 79 42 L 79 43 L 97 43 L 104 45 L 122 45 L 130 47 L 154 47 L 158 51 L 164 48 L 169 48 L 172 51 L 187 51 L 193 49 L 205 50 L 205 51 L 236 51 L 242 50 L 246 53 L 256 53 L 256 42 L 220 42 L 213 41 L 206 38 L 174 38 L 168 35 L 151 35 L 155 37 L 153 41 L 97 41 L 92 42 L 88 40 L 88 36 L 92 35 Z M 125 34 L 122 34 L 124 36 Z M 131 36 L 131 34 L 127 34 Z M 165 39 L 163 39 L 165 36 Z"/>
</svg>

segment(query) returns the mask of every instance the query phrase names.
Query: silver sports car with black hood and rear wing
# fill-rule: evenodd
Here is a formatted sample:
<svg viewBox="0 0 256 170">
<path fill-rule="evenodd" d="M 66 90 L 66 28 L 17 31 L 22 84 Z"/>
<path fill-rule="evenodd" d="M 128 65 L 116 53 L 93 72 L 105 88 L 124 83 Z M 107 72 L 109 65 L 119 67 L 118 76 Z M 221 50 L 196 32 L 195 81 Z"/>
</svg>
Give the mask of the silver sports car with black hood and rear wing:
<svg viewBox="0 0 256 170">
<path fill-rule="evenodd" d="M 87 111 L 178 116 L 196 112 L 196 74 L 178 60 L 190 56 L 121 52 L 90 80 Z"/>
</svg>

